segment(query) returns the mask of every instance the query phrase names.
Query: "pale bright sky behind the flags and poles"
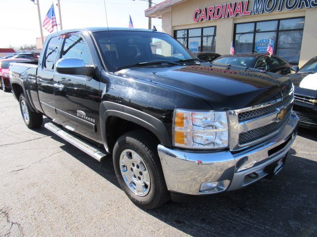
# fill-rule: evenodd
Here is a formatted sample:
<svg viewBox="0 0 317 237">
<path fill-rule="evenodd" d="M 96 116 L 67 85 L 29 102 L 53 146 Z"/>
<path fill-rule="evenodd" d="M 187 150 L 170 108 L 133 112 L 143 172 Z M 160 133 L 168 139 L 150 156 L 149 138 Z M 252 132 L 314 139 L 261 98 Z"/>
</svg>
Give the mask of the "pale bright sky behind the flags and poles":
<svg viewBox="0 0 317 237">
<path fill-rule="evenodd" d="M 109 27 L 128 27 L 129 14 L 135 28 L 148 28 L 148 18 L 144 10 L 148 8 L 146 0 L 105 0 Z M 154 3 L 163 0 L 153 0 Z M 35 0 L 37 2 L 37 0 Z M 39 0 L 41 20 L 52 5 L 52 0 Z M 53 0 L 57 24 L 57 0 Z M 0 47 L 17 47 L 24 44 L 35 44 L 41 37 L 37 5 L 31 0 L 0 0 Z M 63 30 L 106 26 L 104 0 L 60 0 Z M 41 24 L 42 25 L 42 24 Z M 152 25 L 161 30 L 161 20 L 152 18 Z M 43 35 L 50 33 L 43 29 Z M 54 31 L 56 28 L 54 28 Z M 59 30 L 59 26 L 58 26 Z"/>
</svg>

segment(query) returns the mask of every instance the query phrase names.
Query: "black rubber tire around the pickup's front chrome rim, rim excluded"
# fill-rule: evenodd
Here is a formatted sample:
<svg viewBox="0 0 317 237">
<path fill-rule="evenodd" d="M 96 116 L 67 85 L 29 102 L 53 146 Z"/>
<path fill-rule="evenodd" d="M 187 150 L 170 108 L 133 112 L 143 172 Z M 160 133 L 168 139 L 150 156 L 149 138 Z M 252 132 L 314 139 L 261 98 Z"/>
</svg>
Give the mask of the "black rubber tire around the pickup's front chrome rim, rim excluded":
<svg viewBox="0 0 317 237">
<path fill-rule="evenodd" d="M 122 190 L 134 204 L 145 209 L 157 208 L 170 198 L 159 160 L 158 144 L 154 141 L 156 141 L 156 139 L 153 138 L 150 133 L 143 130 L 136 130 L 119 137 L 113 148 L 113 166 Z M 151 180 L 149 191 L 146 196 L 141 197 L 134 193 L 123 179 L 123 175 L 121 174 L 121 168 L 123 166 L 120 164 L 120 156 L 127 150 L 136 152 L 146 165 Z M 131 178 L 133 179 L 132 176 Z"/>
</svg>

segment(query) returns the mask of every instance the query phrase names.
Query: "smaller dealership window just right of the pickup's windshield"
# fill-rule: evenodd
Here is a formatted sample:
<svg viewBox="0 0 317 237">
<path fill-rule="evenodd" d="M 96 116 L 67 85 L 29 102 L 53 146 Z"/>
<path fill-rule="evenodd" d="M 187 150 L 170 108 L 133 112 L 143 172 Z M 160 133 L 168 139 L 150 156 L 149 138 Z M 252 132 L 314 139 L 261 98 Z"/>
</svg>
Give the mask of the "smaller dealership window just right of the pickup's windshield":
<svg viewBox="0 0 317 237">
<path fill-rule="evenodd" d="M 192 52 L 215 52 L 216 27 L 177 30 L 174 36 Z"/>
</svg>

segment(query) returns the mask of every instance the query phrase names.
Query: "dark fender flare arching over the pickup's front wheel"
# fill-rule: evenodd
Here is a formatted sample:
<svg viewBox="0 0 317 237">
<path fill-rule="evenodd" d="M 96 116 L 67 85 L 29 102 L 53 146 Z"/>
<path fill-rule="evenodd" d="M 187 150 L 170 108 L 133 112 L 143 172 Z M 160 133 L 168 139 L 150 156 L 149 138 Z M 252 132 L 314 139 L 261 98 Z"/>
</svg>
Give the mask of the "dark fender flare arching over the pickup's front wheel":
<svg viewBox="0 0 317 237">
<path fill-rule="evenodd" d="M 167 129 L 162 121 L 142 111 L 120 105 L 117 103 L 104 101 L 100 105 L 100 128 L 106 151 L 109 152 L 106 138 L 106 120 L 109 116 L 123 118 L 134 122 L 157 136 L 159 142 L 164 146 L 171 146 Z"/>
</svg>

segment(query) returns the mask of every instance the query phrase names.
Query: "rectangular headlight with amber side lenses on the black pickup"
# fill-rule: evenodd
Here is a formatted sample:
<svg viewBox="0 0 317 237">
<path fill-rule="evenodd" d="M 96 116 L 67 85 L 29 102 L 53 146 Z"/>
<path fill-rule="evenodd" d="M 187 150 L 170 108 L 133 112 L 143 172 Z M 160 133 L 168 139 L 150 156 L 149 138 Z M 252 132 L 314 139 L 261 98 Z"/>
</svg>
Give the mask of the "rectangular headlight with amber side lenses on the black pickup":
<svg viewBox="0 0 317 237">
<path fill-rule="evenodd" d="M 173 145 L 191 149 L 228 147 L 226 112 L 203 112 L 175 109 Z"/>
</svg>

